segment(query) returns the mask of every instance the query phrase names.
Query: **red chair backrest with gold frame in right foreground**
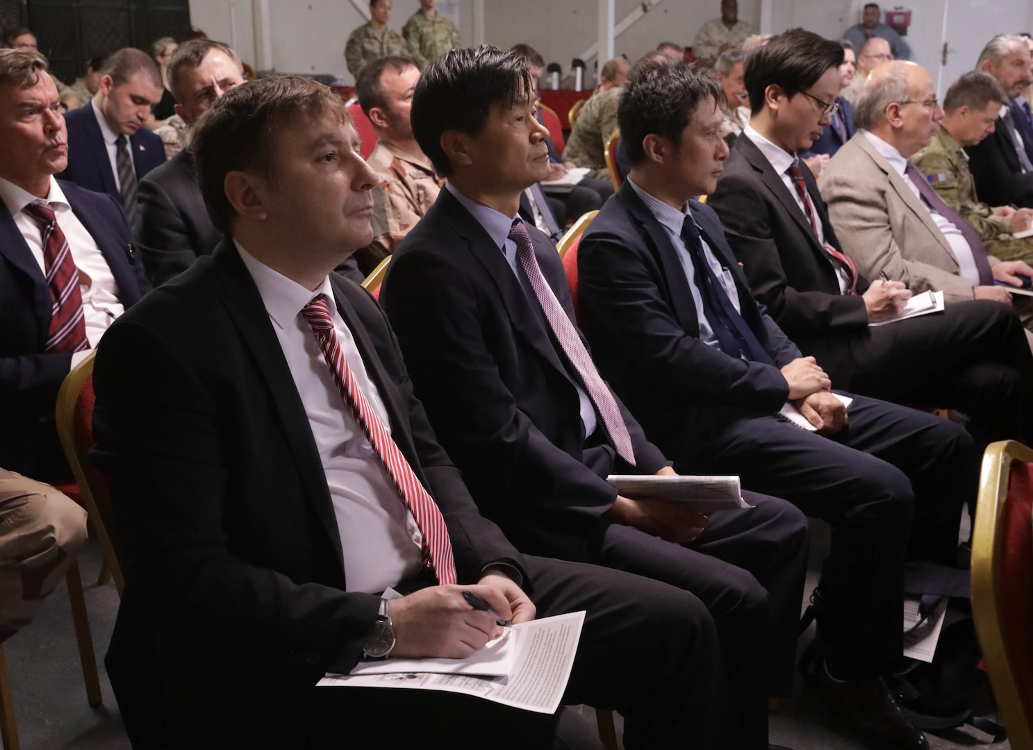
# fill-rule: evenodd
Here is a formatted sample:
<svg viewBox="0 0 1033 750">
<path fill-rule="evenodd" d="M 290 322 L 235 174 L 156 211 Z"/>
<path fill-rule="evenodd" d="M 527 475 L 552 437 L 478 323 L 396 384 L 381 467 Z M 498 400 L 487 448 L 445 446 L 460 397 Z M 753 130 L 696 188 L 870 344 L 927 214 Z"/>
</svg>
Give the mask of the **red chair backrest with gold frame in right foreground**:
<svg viewBox="0 0 1033 750">
<path fill-rule="evenodd" d="M 1033 748 L 1033 450 L 991 443 L 972 535 L 972 615 L 1013 748 Z"/>
</svg>

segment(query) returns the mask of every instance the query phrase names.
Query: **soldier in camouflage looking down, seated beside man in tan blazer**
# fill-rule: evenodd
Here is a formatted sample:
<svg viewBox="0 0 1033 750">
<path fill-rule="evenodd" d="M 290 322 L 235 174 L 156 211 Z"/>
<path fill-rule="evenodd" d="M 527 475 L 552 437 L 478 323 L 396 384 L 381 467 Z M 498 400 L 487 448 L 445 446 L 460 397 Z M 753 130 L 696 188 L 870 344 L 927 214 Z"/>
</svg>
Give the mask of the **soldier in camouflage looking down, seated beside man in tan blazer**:
<svg viewBox="0 0 1033 750">
<path fill-rule="evenodd" d="M 911 157 L 934 190 L 979 232 L 987 252 L 1001 260 L 1033 261 L 1033 238 L 1016 240 L 1013 232 L 1029 228 L 1033 210 L 1010 206 L 992 208 L 980 202 L 962 147 L 975 146 L 994 131 L 1007 95 L 989 74 L 965 73 L 944 98 L 946 116 L 932 143 Z"/>
</svg>

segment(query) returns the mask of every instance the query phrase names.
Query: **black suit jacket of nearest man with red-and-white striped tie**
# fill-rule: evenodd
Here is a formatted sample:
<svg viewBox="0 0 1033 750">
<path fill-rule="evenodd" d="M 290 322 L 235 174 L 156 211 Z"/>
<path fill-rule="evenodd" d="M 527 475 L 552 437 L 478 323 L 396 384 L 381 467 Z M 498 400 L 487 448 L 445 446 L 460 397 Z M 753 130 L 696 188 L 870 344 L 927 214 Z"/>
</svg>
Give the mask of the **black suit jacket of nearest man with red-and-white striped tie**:
<svg viewBox="0 0 1033 750">
<path fill-rule="evenodd" d="M 523 571 L 435 441 L 383 312 L 332 283 L 393 437 L 441 507 L 459 581 L 498 561 Z M 228 239 L 116 321 L 94 385 L 93 457 L 128 563 L 107 665 L 130 735 L 305 746 L 313 686 L 354 665 L 379 597 L 345 591 L 305 408 Z"/>
</svg>

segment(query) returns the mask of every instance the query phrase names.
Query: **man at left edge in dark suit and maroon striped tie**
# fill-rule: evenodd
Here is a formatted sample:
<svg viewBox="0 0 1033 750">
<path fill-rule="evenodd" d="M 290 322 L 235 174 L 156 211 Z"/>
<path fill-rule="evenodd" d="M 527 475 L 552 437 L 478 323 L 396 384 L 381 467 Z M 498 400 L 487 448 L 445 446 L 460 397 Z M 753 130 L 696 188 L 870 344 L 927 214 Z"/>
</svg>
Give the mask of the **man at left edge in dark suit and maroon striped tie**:
<svg viewBox="0 0 1033 750">
<path fill-rule="evenodd" d="M 0 51 L 0 466 L 39 479 L 68 475 L 65 375 L 150 289 L 118 204 L 54 179 L 68 158 L 57 106 L 42 55 Z"/>
</svg>

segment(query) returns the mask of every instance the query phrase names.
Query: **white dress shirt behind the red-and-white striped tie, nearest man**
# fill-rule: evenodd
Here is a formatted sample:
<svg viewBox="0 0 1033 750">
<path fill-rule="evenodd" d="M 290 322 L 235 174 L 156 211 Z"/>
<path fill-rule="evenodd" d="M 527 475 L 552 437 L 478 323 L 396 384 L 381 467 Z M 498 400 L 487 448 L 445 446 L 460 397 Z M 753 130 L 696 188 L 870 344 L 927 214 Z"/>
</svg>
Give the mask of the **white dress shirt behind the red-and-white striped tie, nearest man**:
<svg viewBox="0 0 1033 750">
<path fill-rule="evenodd" d="M 346 590 L 379 593 L 419 572 L 422 534 L 341 397 L 312 326 L 302 315 L 319 294 L 327 296 L 334 331 L 355 384 L 389 433 L 383 401 L 337 311 L 330 279 L 310 291 L 250 255 L 240 243 L 236 245 L 261 294 L 312 428 L 341 537 Z"/>
</svg>

